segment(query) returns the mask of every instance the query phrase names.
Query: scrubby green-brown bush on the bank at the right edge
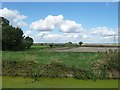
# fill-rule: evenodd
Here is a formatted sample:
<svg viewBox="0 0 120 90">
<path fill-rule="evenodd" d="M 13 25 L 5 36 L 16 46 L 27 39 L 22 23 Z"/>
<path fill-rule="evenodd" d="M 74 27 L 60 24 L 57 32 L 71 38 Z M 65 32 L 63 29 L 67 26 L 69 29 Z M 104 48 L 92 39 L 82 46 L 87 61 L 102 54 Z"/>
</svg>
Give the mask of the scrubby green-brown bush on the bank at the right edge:
<svg viewBox="0 0 120 90">
<path fill-rule="evenodd" d="M 99 59 L 93 62 L 92 70 L 98 79 L 119 78 L 118 51 L 99 52 Z"/>
</svg>

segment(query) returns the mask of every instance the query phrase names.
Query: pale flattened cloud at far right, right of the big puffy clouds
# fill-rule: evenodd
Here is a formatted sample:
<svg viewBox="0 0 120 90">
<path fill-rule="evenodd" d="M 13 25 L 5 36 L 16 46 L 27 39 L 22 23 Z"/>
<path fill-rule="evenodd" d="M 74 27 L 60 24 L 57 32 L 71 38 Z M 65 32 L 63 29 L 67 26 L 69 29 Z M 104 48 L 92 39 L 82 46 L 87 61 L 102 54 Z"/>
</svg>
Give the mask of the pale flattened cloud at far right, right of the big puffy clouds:
<svg viewBox="0 0 120 90">
<path fill-rule="evenodd" d="M 98 36 L 114 36 L 116 35 L 115 30 L 107 27 L 92 28 L 90 34 Z"/>
</svg>

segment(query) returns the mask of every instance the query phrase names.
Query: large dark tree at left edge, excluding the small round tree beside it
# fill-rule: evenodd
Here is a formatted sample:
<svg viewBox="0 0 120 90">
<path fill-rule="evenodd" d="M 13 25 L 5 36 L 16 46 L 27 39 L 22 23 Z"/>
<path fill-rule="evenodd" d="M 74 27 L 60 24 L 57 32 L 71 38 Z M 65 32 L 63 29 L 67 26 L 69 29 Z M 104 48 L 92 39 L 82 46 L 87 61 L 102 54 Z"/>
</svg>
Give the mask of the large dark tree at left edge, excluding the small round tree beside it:
<svg viewBox="0 0 120 90">
<path fill-rule="evenodd" d="M 20 50 L 22 45 L 23 31 L 9 25 L 9 21 L 2 18 L 2 49 Z"/>
</svg>

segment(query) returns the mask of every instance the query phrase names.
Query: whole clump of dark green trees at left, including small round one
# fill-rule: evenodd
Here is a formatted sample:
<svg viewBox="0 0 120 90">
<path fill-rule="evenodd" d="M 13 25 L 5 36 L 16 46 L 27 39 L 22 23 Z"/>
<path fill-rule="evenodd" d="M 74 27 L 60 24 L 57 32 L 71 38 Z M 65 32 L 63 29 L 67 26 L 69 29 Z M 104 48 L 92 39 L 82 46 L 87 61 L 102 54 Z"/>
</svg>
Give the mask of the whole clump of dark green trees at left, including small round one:
<svg viewBox="0 0 120 90">
<path fill-rule="evenodd" d="M 1 17 L 0 24 L 2 25 L 0 29 L 2 33 L 0 37 L 2 41 L 2 50 L 25 50 L 33 45 L 33 39 L 29 36 L 25 37 L 23 31 L 18 27 L 10 25 L 6 18 Z"/>
</svg>

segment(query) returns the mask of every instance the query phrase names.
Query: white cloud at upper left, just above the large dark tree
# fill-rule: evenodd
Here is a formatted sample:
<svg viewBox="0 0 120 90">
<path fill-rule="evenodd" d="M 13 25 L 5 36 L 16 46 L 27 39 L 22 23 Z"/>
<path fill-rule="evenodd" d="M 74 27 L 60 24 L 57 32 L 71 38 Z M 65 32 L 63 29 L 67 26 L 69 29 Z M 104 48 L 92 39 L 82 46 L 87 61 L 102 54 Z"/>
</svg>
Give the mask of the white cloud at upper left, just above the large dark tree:
<svg viewBox="0 0 120 90">
<path fill-rule="evenodd" d="M 21 15 L 17 10 L 11 10 L 8 8 L 0 9 L 0 17 L 4 17 L 10 21 L 10 25 L 14 27 L 23 28 L 27 26 L 23 20 L 27 18 L 25 15 Z"/>
</svg>

